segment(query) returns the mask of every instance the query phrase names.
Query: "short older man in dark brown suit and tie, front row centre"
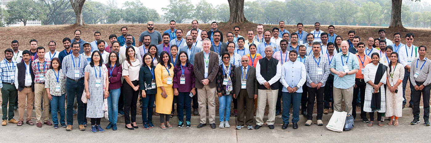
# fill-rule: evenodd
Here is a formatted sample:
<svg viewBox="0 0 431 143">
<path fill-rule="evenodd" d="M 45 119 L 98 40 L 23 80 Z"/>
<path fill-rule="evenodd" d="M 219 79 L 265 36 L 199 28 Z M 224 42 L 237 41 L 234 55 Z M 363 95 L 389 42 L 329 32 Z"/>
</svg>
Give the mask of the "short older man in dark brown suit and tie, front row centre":
<svg viewBox="0 0 431 143">
<path fill-rule="evenodd" d="M 241 65 L 235 69 L 235 87 L 234 98 L 238 102 L 238 118 L 236 129 L 244 127 L 244 105 L 245 105 L 245 123 L 247 129 L 253 129 L 253 101 L 257 98 L 257 80 L 256 68 L 248 65 L 248 57 L 241 57 Z M 241 78 L 239 78 L 241 77 Z"/>
</svg>

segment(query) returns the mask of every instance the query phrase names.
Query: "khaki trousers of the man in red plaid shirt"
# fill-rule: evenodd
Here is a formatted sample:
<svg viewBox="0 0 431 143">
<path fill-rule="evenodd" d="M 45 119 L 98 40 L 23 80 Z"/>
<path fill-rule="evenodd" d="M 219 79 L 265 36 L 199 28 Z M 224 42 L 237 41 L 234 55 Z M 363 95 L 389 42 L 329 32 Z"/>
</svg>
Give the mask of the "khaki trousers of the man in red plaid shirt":
<svg viewBox="0 0 431 143">
<path fill-rule="evenodd" d="M 42 99 L 44 99 L 44 112 L 42 118 Z M 45 90 L 45 84 L 34 84 L 34 109 L 36 110 L 36 122 L 46 122 L 49 119 L 50 113 L 50 99 L 48 98 L 47 90 Z"/>
</svg>

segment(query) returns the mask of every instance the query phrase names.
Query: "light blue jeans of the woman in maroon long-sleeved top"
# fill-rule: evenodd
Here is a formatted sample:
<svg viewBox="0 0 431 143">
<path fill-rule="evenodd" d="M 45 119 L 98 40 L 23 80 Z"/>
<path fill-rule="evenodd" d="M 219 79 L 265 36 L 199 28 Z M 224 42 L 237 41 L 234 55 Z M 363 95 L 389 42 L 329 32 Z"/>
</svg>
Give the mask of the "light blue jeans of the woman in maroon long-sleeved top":
<svg viewBox="0 0 431 143">
<path fill-rule="evenodd" d="M 109 90 L 109 96 L 108 96 L 108 117 L 109 117 L 109 123 L 111 124 L 117 124 L 117 118 L 118 118 L 118 99 L 120 97 L 120 88 Z"/>
</svg>

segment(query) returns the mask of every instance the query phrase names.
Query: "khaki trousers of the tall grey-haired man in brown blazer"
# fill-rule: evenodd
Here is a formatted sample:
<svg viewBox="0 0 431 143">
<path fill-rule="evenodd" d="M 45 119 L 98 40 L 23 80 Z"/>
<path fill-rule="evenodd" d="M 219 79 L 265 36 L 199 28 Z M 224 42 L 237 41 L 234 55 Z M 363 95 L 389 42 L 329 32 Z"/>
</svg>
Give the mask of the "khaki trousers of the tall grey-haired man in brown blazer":
<svg viewBox="0 0 431 143">
<path fill-rule="evenodd" d="M 209 124 L 215 124 L 215 87 L 208 85 L 197 89 L 197 103 L 199 104 L 200 123 L 206 124 L 206 100 L 208 100 Z"/>
</svg>

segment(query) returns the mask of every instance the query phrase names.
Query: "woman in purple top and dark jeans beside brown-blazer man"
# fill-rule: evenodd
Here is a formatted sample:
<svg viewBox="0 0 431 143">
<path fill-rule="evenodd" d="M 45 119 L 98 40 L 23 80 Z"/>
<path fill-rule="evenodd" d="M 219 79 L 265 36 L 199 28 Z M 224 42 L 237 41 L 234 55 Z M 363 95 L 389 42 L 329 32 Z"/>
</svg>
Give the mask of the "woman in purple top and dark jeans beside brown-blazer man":
<svg viewBox="0 0 431 143">
<path fill-rule="evenodd" d="M 193 65 L 188 62 L 188 56 L 185 51 L 179 54 L 180 62 L 177 62 L 174 67 L 173 88 L 174 95 L 178 98 L 177 111 L 178 112 L 178 126 L 184 126 L 184 112 L 186 109 L 186 127 L 191 127 L 191 100 L 196 91 L 194 90 L 194 72 Z"/>
</svg>

